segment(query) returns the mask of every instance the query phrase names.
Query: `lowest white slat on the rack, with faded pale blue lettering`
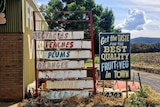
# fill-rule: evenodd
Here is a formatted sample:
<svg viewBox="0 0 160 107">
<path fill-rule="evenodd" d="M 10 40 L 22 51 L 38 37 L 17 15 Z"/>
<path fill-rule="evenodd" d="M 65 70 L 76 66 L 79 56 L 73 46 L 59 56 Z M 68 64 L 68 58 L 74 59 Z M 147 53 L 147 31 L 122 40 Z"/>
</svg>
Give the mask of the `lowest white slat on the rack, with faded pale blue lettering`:
<svg viewBox="0 0 160 107">
<path fill-rule="evenodd" d="M 92 92 L 90 90 L 66 90 L 66 91 L 41 91 L 40 95 L 48 99 L 63 99 L 72 96 L 88 97 Z"/>
</svg>

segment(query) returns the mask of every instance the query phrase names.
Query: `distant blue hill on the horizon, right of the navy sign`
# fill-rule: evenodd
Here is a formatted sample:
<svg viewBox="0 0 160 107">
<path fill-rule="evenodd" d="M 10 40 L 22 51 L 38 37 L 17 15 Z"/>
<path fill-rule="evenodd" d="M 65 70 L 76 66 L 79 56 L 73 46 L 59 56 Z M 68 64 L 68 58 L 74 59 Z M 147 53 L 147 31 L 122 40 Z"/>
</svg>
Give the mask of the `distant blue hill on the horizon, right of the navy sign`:
<svg viewBox="0 0 160 107">
<path fill-rule="evenodd" d="M 155 43 L 160 43 L 160 38 L 138 37 L 131 39 L 131 43 L 155 44 Z"/>
</svg>

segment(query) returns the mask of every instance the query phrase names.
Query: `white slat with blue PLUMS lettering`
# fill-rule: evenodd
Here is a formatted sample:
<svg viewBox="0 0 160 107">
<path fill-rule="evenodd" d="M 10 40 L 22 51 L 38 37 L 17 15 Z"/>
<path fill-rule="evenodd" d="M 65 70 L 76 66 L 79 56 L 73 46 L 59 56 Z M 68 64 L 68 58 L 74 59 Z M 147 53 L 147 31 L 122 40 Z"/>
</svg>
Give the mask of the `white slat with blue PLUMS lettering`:
<svg viewBox="0 0 160 107">
<path fill-rule="evenodd" d="M 91 50 L 62 50 L 62 51 L 37 51 L 37 59 L 79 59 L 91 58 Z"/>
</svg>

